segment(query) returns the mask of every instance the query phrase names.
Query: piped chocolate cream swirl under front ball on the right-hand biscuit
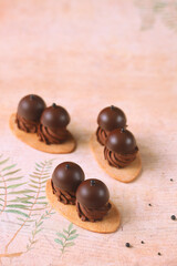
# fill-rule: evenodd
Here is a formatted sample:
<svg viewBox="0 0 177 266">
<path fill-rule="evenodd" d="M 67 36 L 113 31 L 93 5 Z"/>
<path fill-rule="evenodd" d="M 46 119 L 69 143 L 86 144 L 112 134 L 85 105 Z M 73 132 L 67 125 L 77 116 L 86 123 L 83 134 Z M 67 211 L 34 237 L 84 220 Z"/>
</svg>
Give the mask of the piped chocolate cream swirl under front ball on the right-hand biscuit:
<svg viewBox="0 0 177 266">
<path fill-rule="evenodd" d="M 138 152 L 138 147 L 136 146 L 132 153 L 121 154 L 113 151 L 110 151 L 106 146 L 104 147 L 104 157 L 107 160 L 111 166 L 123 168 L 129 165 L 135 158 Z"/>
</svg>

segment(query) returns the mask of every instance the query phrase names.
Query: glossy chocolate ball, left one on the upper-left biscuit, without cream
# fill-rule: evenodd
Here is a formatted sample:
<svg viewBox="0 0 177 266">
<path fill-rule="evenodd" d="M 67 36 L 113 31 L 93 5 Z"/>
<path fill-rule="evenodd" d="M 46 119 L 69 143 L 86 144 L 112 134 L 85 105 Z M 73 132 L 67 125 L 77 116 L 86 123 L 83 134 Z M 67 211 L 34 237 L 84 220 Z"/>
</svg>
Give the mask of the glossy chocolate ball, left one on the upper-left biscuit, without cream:
<svg viewBox="0 0 177 266">
<path fill-rule="evenodd" d="M 18 105 L 18 115 L 29 121 L 40 121 L 41 114 L 45 109 L 45 102 L 42 98 L 30 94 L 22 98 Z"/>
</svg>

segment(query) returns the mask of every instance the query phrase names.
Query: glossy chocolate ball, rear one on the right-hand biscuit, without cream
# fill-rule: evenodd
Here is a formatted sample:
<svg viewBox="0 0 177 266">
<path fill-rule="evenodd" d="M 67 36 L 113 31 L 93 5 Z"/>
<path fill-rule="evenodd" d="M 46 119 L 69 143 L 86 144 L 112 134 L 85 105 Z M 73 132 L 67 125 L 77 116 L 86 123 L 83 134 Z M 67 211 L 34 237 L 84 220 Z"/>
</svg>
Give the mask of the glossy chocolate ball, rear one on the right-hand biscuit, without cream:
<svg viewBox="0 0 177 266">
<path fill-rule="evenodd" d="M 116 106 L 103 109 L 97 116 L 97 124 L 105 131 L 113 131 L 126 126 L 124 112 Z"/>
</svg>

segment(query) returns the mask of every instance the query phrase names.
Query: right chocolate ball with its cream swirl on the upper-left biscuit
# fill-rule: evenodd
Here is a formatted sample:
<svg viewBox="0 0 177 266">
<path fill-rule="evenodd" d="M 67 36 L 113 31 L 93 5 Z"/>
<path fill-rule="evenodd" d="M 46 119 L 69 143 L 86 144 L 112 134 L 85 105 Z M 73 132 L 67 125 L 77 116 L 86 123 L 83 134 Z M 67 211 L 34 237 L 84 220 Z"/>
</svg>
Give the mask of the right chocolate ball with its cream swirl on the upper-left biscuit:
<svg viewBox="0 0 177 266">
<path fill-rule="evenodd" d="M 46 108 L 41 115 L 38 127 L 40 141 L 46 144 L 60 144 L 65 142 L 70 136 L 66 130 L 69 123 L 70 115 L 67 111 L 53 103 L 52 106 Z"/>
</svg>

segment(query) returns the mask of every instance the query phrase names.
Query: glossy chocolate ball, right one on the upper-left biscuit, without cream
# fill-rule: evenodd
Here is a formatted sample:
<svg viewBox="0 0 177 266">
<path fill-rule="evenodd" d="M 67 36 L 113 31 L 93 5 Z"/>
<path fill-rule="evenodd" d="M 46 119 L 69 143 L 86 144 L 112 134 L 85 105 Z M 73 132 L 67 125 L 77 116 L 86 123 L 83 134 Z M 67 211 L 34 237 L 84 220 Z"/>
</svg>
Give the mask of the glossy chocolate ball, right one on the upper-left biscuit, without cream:
<svg viewBox="0 0 177 266">
<path fill-rule="evenodd" d="M 70 115 L 67 111 L 56 105 L 55 103 L 52 106 L 46 108 L 41 115 L 41 124 L 49 126 L 51 129 L 65 127 L 70 123 Z"/>
</svg>

